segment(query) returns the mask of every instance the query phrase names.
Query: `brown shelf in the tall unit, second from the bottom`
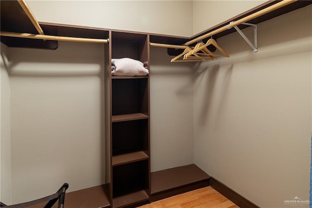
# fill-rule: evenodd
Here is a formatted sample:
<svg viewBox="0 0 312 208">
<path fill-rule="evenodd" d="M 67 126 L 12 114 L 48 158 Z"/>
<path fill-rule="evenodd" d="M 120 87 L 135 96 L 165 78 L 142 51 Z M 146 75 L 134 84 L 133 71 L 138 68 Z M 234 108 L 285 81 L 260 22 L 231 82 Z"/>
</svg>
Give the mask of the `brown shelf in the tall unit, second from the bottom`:
<svg viewBox="0 0 312 208">
<path fill-rule="evenodd" d="M 119 166 L 127 163 L 137 162 L 140 160 L 148 159 L 148 155 L 143 151 L 131 152 L 127 154 L 121 154 L 113 156 L 113 166 Z"/>
</svg>

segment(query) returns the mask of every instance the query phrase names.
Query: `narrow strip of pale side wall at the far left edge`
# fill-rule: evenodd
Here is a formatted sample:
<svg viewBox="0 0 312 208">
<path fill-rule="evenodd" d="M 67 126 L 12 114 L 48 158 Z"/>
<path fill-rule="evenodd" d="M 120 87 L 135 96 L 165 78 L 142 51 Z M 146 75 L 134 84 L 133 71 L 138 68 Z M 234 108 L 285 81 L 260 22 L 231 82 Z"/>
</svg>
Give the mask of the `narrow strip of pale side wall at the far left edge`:
<svg viewBox="0 0 312 208">
<path fill-rule="evenodd" d="M 11 135 L 10 135 L 10 79 L 8 48 L 0 47 L 0 201 L 11 204 Z"/>
</svg>

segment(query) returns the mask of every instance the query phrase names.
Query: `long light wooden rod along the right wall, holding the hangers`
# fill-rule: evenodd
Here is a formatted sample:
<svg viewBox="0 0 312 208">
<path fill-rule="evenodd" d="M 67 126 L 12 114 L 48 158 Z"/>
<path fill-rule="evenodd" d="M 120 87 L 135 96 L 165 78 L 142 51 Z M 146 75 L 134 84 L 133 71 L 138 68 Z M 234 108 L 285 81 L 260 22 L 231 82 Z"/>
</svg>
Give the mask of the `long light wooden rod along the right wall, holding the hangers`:
<svg viewBox="0 0 312 208">
<path fill-rule="evenodd" d="M 230 29 L 230 28 L 232 28 L 232 27 L 234 27 L 234 26 L 236 26 L 238 24 L 244 23 L 246 21 L 253 20 L 254 18 L 257 18 L 257 17 L 259 17 L 261 15 L 264 15 L 266 13 L 272 12 L 273 10 L 276 10 L 276 9 L 281 8 L 283 6 L 286 6 L 286 5 L 290 4 L 290 3 L 293 3 L 294 1 L 296 1 L 296 0 L 282 0 L 282 1 L 278 2 L 278 3 L 273 4 L 272 6 L 264 8 L 264 9 L 258 11 L 258 12 L 255 12 L 254 14 L 248 15 L 247 17 L 244 17 L 244 18 L 242 18 L 240 20 L 237 20 L 237 21 L 234 21 L 232 23 L 229 23 L 228 25 L 220 27 L 220 28 L 218 28 L 218 29 L 216 29 L 216 30 L 214 30 L 212 32 L 209 32 L 209 33 L 207 33 L 205 35 L 202 35 L 202 36 L 200 36 L 198 38 L 195 38 L 195 39 L 193 39 L 193 40 L 191 40 L 189 42 L 186 42 L 183 45 L 190 45 L 190 44 L 192 44 L 194 42 L 197 42 L 198 40 L 202 40 L 202 39 L 211 37 L 211 36 L 213 36 L 213 35 L 215 35 L 217 33 L 220 33 L 220 32 L 223 32 L 223 31 L 225 31 L 227 29 Z"/>
</svg>

